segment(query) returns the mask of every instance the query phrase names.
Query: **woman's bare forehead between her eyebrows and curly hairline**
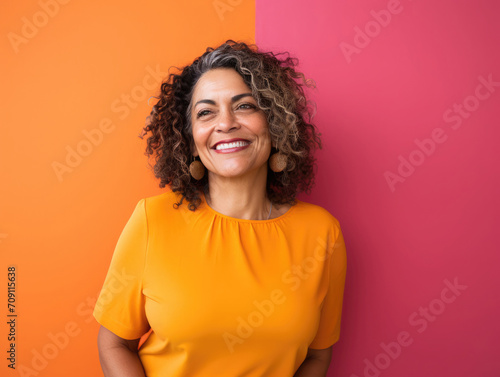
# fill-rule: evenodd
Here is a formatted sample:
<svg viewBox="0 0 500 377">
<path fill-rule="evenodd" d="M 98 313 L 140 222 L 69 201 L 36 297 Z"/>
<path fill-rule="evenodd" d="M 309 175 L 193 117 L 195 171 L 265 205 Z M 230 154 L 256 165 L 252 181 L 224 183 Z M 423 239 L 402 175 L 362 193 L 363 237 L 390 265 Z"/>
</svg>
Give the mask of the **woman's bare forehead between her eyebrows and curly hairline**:
<svg viewBox="0 0 500 377">
<path fill-rule="evenodd" d="M 251 92 L 238 72 L 232 68 L 216 68 L 200 77 L 195 85 L 193 99 L 224 93 L 239 94 L 241 91 Z"/>
</svg>

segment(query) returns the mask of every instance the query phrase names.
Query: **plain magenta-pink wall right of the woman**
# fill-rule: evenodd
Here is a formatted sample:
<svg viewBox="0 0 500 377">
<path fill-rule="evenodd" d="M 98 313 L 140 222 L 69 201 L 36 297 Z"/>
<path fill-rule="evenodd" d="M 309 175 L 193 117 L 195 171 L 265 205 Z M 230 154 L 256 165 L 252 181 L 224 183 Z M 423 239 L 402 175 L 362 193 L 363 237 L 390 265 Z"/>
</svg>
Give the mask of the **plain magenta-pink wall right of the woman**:
<svg viewBox="0 0 500 377">
<path fill-rule="evenodd" d="M 317 83 L 301 199 L 348 251 L 329 376 L 500 375 L 500 3 L 256 2 L 256 42 Z"/>
</svg>

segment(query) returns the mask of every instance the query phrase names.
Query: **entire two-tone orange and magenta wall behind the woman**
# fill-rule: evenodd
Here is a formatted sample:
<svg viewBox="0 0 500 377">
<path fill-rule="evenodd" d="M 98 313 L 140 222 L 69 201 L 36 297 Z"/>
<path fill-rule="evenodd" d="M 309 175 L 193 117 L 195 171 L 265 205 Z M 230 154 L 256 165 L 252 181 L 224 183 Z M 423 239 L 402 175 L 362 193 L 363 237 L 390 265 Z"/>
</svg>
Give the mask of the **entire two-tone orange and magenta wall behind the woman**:
<svg viewBox="0 0 500 377">
<path fill-rule="evenodd" d="M 3 2 L 0 375 L 102 375 L 93 304 L 135 204 L 163 192 L 147 100 L 234 39 L 317 84 L 324 149 L 299 198 L 348 251 L 329 376 L 500 376 L 499 16 L 493 0 Z"/>
</svg>

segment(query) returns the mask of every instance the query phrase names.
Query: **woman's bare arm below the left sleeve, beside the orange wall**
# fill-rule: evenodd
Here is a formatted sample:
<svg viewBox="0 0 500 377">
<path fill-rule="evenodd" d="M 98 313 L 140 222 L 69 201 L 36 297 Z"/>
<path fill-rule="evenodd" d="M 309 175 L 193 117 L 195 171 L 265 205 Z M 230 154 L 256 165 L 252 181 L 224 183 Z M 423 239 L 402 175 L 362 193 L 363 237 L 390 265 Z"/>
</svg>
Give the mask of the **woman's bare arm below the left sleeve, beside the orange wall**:
<svg viewBox="0 0 500 377">
<path fill-rule="evenodd" d="M 104 326 L 99 328 L 97 348 L 105 377 L 146 377 L 137 353 L 139 339 L 123 339 Z"/>
</svg>

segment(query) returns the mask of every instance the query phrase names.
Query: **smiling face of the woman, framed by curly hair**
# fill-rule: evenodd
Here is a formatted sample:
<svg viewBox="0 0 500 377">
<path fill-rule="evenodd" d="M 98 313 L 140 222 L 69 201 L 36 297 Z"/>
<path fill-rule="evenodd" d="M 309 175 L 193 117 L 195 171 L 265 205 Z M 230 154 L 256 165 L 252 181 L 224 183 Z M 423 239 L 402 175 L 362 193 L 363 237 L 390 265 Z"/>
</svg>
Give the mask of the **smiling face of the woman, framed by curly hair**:
<svg viewBox="0 0 500 377">
<path fill-rule="evenodd" d="M 193 155 L 199 155 L 211 173 L 229 178 L 264 169 L 267 174 L 271 138 L 266 115 L 234 69 L 205 72 L 196 84 L 192 104 Z M 222 143 L 219 147 L 226 149 L 215 148 L 216 143 L 231 139 L 249 144 Z"/>
</svg>

